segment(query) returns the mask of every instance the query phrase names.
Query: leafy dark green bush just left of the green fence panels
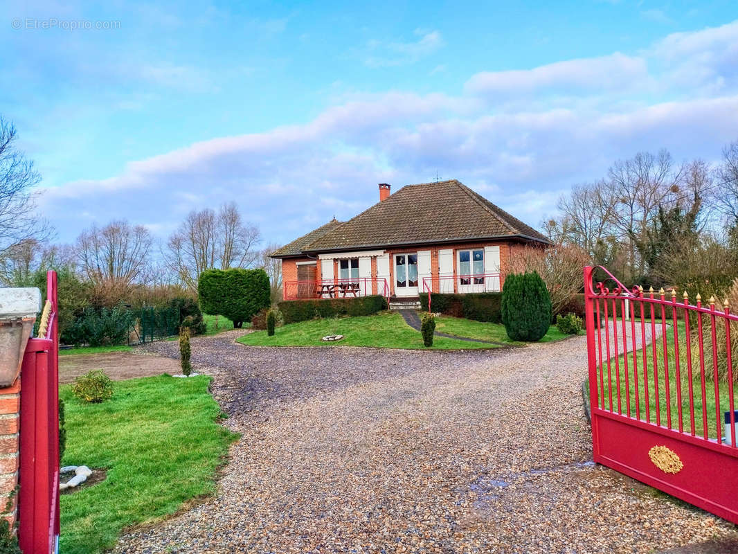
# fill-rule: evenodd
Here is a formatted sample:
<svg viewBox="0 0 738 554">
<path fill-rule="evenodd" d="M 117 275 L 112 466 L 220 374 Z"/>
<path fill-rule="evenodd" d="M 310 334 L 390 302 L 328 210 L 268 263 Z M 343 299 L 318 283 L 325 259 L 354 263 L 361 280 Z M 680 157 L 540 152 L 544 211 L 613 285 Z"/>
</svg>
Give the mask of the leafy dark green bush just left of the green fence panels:
<svg viewBox="0 0 738 554">
<path fill-rule="evenodd" d="M 66 333 L 73 344 L 114 346 L 128 341 L 132 315 L 125 307 L 112 309 L 87 307 Z"/>
</svg>

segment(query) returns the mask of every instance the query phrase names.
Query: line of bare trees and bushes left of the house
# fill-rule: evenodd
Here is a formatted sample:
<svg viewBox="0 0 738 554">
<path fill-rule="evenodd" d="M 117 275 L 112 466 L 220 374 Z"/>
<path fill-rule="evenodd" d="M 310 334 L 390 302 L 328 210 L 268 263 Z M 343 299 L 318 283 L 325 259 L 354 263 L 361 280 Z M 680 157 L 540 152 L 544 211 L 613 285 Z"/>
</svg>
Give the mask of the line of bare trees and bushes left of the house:
<svg viewBox="0 0 738 554">
<path fill-rule="evenodd" d="M 0 118 L 0 284 L 44 289 L 46 271 L 56 270 L 61 326 L 87 307 L 193 298 L 201 273 L 212 268 L 261 267 L 272 298 L 280 298 L 281 264 L 269 259 L 277 245 L 264 246 L 259 229 L 234 202 L 191 211 L 160 243 L 148 228 L 125 219 L 93 224 L 72 244 L 55 243 L 36 205 L 41 176 L 17 140 L 15 126 Z"/>
</svg>

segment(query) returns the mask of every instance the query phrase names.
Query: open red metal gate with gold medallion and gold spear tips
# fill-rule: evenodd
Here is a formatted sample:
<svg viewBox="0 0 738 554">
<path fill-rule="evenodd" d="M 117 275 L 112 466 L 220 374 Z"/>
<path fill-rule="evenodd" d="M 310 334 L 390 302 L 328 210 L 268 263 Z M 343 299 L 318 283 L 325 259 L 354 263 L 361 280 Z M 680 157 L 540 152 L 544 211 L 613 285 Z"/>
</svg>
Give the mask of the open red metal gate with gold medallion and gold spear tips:
<svg viewBox="0 0 738 554">
<path fill-rule="evenodd" d="M 599 269 L 611 288 L 584 269 L 595 461 L 738 523 L 738 316 Z"/>
</svg>

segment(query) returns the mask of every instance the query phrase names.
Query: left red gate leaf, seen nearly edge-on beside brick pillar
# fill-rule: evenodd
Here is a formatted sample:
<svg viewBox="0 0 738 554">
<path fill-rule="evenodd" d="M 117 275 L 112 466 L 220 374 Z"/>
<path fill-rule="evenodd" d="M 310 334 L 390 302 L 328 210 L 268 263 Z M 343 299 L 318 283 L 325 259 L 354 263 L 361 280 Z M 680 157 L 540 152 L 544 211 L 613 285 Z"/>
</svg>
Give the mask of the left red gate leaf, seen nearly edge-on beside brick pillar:
<svg viewBox="0 0 738 554">
<path fill-rule="evenodd" d="M 31 338 L 21 367 L 18 543 L 24 553 L 53 553 L 59 536 L 59 380 L 56 272 L 45 337 Z"/>
</svg>

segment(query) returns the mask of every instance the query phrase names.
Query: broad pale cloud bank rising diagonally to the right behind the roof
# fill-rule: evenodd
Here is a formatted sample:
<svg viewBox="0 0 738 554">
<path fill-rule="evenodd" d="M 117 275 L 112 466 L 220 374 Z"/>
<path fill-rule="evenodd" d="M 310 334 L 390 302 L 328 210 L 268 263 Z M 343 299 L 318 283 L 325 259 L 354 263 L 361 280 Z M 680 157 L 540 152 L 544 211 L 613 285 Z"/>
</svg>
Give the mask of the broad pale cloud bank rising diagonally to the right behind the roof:
<svg viewBox="0 0 738 554">
<path fill-rule="evenodd" d="M 267 242 L 287 242 L 332 216 L 373 202 L 376 183 L 458 178 L 531 225 L 551 213 L 562 190 L 601 177 L 618 158 L 669 148 L 677 160 L 714 159 L 738 138 L 738 90 L 728 88 L 738 24 L 677 33 L 637 57 L 615 53 L 528 71 L 477 74 L 458 97 L 411 92 L 342 98 L 303 125 L 219 137 L 145 160 L 103 180 L 46 189 L 42 204 L 72 239 L 92 219 L 134 214 L 160 235 L 191 209 L 240 203 Z M 681 52 L 672 56 L 674 51 Z M 671 97 L 675 75 L 699 60 L 694 79 Z M 651 72 L 647 70 L 650 69 Z M 661 100 L 630 97 L 617 83 L 658 82 Z M 676 88 L 676 87 L 675 87 Z M 577 89 L 556 102 L 551 90 Z M 520 103 L 480 96 L 528 92 Z M 666 91 L 666 92 L 664 92 Z"/>
</svg>

